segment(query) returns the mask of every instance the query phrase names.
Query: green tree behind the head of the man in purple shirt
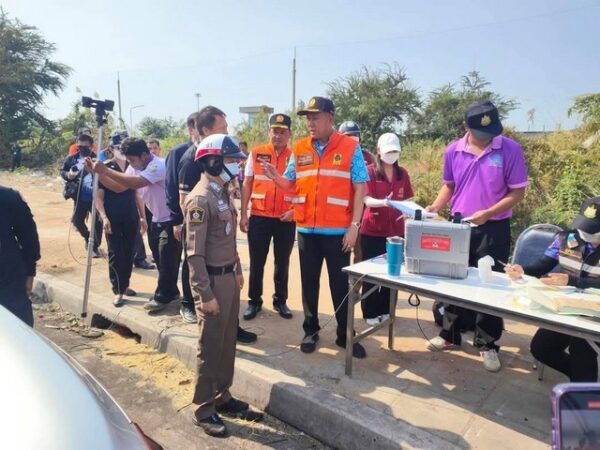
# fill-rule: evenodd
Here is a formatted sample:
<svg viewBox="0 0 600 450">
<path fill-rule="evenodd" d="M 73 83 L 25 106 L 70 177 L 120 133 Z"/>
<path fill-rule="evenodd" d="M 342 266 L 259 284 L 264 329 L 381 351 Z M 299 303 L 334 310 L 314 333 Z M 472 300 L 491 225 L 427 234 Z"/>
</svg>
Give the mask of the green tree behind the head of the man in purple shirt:
<svg viewBox="0 0 600 450">
<path fill-rule="evenodd" d="M 453 141 L 464 133 L 463 121 L 468 106 L 476 100 L 491 100 L 501 118 L 518 106 L 490 90 L 490 82 L 479 72 L 469 72 L 456 84 L 447 84 L 432 91 L 423 108 L 412 116 L 408 134 L 412 138 Z"/>
</svg>

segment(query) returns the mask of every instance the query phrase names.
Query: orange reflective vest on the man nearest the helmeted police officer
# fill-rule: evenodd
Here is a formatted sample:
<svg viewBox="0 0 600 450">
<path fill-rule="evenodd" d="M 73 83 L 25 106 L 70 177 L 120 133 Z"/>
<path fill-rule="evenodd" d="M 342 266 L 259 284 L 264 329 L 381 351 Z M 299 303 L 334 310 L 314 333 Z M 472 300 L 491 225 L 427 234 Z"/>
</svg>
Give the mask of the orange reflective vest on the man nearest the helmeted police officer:
<svg viewBox="0 0 600 450">
<path fill-rule="evenodd" d="M 261 162 L 268 162 L 277 168 L 281 175 L 285 172 L 292 151 L 286 147 L 278 156 L 272 144 L 253 148 L 251 151 L 254 167 L 254 180 L 252 183 L 252 209 L 250 214 L 263 217 L 281 217 L 292 207 L 292 192 L 285 192 L 275 186 L 275 182 L 269 179 L 263 172 Z"/>
</svg>

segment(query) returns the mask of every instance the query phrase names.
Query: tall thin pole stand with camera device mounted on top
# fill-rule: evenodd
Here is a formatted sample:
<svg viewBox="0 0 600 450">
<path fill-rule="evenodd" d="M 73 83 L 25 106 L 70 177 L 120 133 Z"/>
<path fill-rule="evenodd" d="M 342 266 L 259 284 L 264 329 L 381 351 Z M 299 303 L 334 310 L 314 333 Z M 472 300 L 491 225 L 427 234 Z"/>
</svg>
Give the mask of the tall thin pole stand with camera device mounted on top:
<svg viewBox="0 0 600 450">
<path fill-rule="evenodd" d="M 97 148 L 98 151 L 102 148 L 102 134 L 104 132 L 104 125 L 106 125 L 106 120 L 108 117 L 108 112 L 112 111 L 115 102 L 112 100 L 93 100 L 90 97 L 82 97 L 81 105 L 84 108 L 93 108 L 96 110 L 96 124 L 98 125 L 98 138 L 97 138 Z M 90 237 L 88 239 L 88 248 L 87 248 L 87 263 L 85 268 L 85 284 L 83 288 L 83 305 L 81 307 L 81 318 L 85 319 L 87 317 L 87 308 L 88 308 L 88 300 L 90 294 L 90 279 L 92 276 L 92 253 L 94 249 L 94 242 L 96 240 L 96 227 L 94 224 L 96 223 L 96 216 L 98 212 L 96 211 L 96 197 L 98 195 L 98 174 L 95 173 L 93 176 L 93 185 L 92 185 L 92 226 L 90 227 Z"/>
</svg>

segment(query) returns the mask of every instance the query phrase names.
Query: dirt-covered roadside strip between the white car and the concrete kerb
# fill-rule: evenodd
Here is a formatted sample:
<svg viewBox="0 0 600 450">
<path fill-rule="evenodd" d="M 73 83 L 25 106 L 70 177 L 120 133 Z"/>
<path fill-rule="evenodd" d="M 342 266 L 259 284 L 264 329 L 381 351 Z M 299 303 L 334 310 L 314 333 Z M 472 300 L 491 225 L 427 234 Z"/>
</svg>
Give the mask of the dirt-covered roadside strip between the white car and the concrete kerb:
<svg viewBox="0 0 600 450">
<path fill-rule="evenodd" d="M 269 415 L 260 423 L 224 418 L 229 436 L 208 437 L 191 421 L 194 373 L 177 359 L 138 344 L 119 328 L 84 337 L 76 316 L 57 304 L 34 305 L 34 314 L 35 328 L 92 373 L 165 450 L 326 448 Z"/>
</svg>

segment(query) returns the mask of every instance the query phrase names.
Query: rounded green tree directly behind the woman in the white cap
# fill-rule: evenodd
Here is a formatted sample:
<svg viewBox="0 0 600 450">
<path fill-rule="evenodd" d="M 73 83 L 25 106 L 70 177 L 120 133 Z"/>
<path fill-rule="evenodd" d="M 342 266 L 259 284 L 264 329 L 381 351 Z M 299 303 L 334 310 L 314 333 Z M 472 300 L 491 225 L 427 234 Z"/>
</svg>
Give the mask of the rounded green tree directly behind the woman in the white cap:
<svg viewBox="0 0 600 450">
<path fill-rule="evenodd" d="M 358 123 L 362 142 L 372 151 L 381 134 L 399 133 L 421 104 L 417 90 L 397 64 L 380 69 L 363 66 L 329 83 L 327 94 L 336 106 L 336 122 Z"/>
</svg>

